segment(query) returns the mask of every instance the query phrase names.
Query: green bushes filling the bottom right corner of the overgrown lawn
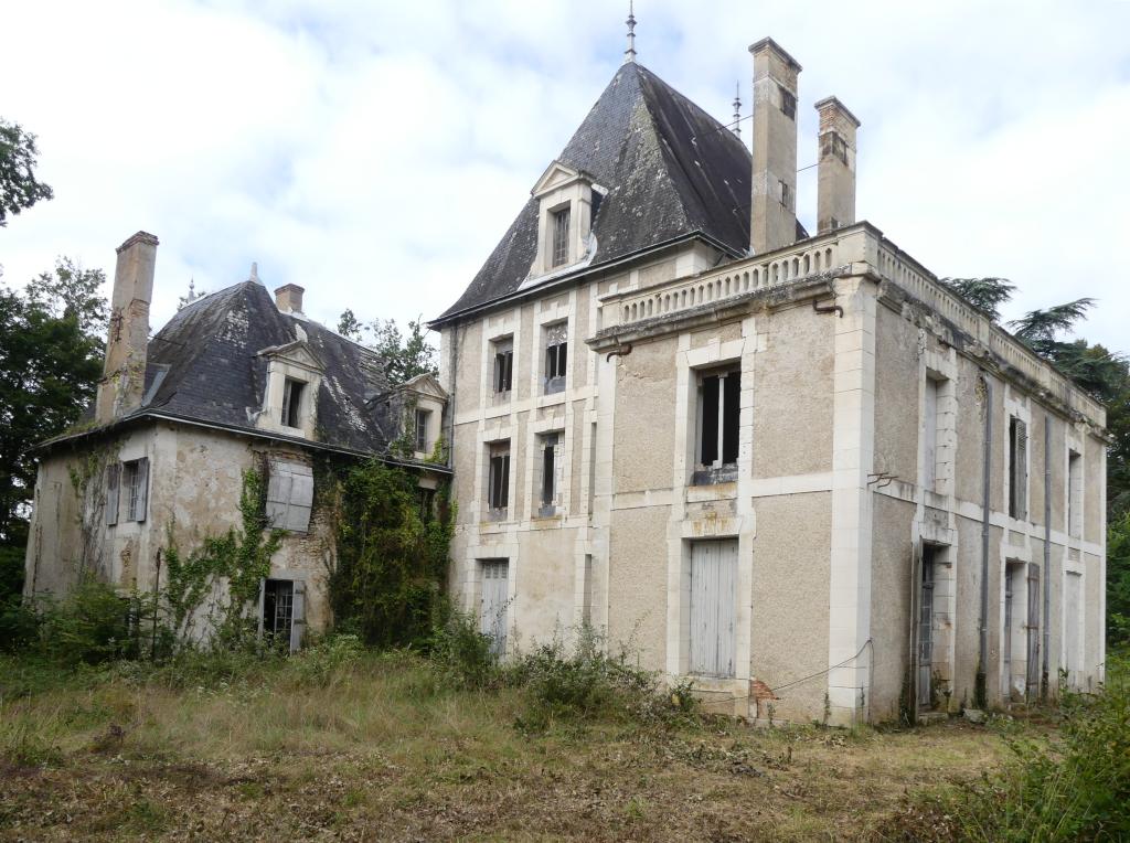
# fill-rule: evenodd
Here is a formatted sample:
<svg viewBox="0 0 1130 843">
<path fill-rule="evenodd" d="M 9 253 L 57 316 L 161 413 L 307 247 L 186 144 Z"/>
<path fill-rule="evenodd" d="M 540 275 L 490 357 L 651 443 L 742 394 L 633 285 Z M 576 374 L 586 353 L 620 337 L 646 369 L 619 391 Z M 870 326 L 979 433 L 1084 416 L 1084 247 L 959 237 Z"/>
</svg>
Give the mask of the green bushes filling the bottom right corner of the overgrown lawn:
<svg viewBox="0 0 1130 843">
<path fill-rule="evenodd" d="M 1096 695 L 1067 693 L 1059 739 L 1006 732 L 1014 761 L 981 781 L 925 796 L 905 838 L 1076 841 L 1130 837 L 1130 683 L 1112 659 Z M 919 836 L 932 826 L 932 836 Z"/>
</svg>

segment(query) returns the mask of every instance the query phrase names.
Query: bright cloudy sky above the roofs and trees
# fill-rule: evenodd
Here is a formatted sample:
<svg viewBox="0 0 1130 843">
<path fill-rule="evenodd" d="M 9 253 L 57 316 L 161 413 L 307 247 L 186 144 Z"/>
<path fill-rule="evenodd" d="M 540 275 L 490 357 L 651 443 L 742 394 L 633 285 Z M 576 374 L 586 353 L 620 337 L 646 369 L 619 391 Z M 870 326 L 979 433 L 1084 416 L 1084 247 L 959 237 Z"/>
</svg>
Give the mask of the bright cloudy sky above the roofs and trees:
<svg viewBox="0 0 1130 843">
<path fill-rule="evenodd" d="M 154 325 L 194 278 L 306 288 L 336 324 L 441 313 L 621 61 L 606 0 L 0 0 L 0 116 L 55 199 L 0 229 L 3 283 L 56 255 L 113 273 L 156 234 Z M 811 104 L 862 121 L 859 218 L 939 275 L 1083 295 L 1130 350 L 1130 2 L 638 0 L 640 61 L 724 122 L 772 35 Z M 748 106 L 744 106 L 748 113 Z M 748 123 L 746 124 L 748 125 Z M 749 132 L 746 132 L 749 137 Z M 815 170 L 801 173 L 811 229 Z"/>
</svg>

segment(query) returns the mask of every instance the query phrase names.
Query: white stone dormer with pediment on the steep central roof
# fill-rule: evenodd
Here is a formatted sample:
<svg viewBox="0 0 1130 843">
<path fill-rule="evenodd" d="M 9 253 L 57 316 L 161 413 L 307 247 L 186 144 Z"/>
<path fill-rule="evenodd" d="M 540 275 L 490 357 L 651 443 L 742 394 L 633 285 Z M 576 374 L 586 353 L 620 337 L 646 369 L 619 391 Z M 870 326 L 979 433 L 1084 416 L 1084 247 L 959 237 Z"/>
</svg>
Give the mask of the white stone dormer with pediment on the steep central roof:
<svg viewBox="0 0 1130 843">
<path fill-rule="evenodd" d="M 591 258 L 596 251 L 593 203 L 601 194 L 592 176 L 555 160 L 531 193 L 538 200 L 538 250 L 530 278 L 554 275 Z"/>
</svg>

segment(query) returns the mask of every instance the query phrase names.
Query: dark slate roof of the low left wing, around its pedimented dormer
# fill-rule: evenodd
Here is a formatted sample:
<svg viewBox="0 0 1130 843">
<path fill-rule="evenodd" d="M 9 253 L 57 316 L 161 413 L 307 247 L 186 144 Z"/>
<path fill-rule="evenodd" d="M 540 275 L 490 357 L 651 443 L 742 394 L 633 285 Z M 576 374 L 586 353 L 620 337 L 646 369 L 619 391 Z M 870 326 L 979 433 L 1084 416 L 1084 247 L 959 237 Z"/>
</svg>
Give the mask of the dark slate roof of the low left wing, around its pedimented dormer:
<svg viewBox="0 0 1130 843">
<path fill-rule="evenodd" d="M 255 431 L 267 359 L 259 351 L 305 332 L 324 364 L 318 393 L 320 441 L 383 452 L 395 435 L 381 358 L 316 322 L 280 313 L 263 286 L 244 281 L 183 307 L 149 341 L 146 393 L 132 416 L 160 412 Z"/>
</svg>

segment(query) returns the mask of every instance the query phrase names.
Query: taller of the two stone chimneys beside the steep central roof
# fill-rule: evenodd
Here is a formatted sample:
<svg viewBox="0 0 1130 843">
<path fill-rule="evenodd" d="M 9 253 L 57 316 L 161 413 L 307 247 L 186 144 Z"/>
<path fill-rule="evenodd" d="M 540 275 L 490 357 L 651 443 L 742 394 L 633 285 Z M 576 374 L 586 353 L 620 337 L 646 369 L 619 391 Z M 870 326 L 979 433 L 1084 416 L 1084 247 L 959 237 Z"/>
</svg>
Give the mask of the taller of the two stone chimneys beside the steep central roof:
<svg viewBox="0 0 1130 843">
<path fill-rule="evenodd" d="M 755 254 L 797 240 L 797 77 L 800 64 L 773 38 L 754 55 L 754 173 L 749 247 Z"/>
</svg>

